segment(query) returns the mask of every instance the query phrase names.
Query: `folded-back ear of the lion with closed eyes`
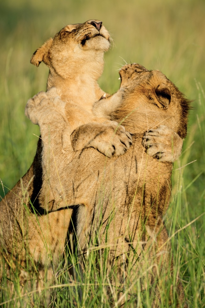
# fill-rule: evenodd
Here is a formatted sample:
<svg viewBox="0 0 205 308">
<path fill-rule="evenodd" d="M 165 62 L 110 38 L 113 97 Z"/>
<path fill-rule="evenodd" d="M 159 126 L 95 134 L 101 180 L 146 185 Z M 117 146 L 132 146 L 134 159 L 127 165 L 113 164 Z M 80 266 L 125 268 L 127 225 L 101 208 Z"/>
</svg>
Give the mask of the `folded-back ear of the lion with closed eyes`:
<svg viewBox="0 0 205 308">
<path fill-rule="evenodd" d="M 30 59 L 30 63 L 37 66 L 43 61 L 46 65 L 49 65 L 48 51 L 51 47 L 53 39 L 48 39 L 40 48 L 38 48 Z"/>
</svg>

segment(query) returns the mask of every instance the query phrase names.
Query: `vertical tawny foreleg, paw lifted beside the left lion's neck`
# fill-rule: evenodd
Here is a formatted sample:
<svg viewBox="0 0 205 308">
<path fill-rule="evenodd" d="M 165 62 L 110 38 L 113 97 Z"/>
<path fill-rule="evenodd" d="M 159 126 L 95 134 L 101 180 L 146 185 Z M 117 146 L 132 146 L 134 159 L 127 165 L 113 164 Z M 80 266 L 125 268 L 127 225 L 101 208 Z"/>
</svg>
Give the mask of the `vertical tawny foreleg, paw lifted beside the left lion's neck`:
<svg viewBox="0 0 205 308">
<path fill-rule="evenodd" d="M 53 98 L 51 94 L 54 93 L 50 93 L 52 91 L 39 92 L 28 100 L 25 108 L 26 116 L 40 127 L 43 180 L 39 201 L 42 207 L 47 207 L 49 202 L 58 203 L 62 199 L 62 183 L 59 176 L 68 155 L 62 144 L 63 133 L 69 129 L 63 114 L 65 103 L 57 94 Z"/>
</svg>

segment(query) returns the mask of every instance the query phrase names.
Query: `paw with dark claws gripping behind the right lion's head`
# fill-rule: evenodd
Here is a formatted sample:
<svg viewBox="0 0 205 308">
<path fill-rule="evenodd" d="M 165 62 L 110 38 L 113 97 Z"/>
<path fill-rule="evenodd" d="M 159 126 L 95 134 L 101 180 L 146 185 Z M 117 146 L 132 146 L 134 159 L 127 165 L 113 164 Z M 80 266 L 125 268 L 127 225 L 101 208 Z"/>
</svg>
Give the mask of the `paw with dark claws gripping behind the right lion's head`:
<svg viewBox="0 0 205 308">
<path fill-rule="evenodd" d="M 183 140 L 171 128 L 160 125 L 145 132 L 142 145 L 149 156 L 159 161 L 174 162 L 181 154 Z"/>
</svg>

